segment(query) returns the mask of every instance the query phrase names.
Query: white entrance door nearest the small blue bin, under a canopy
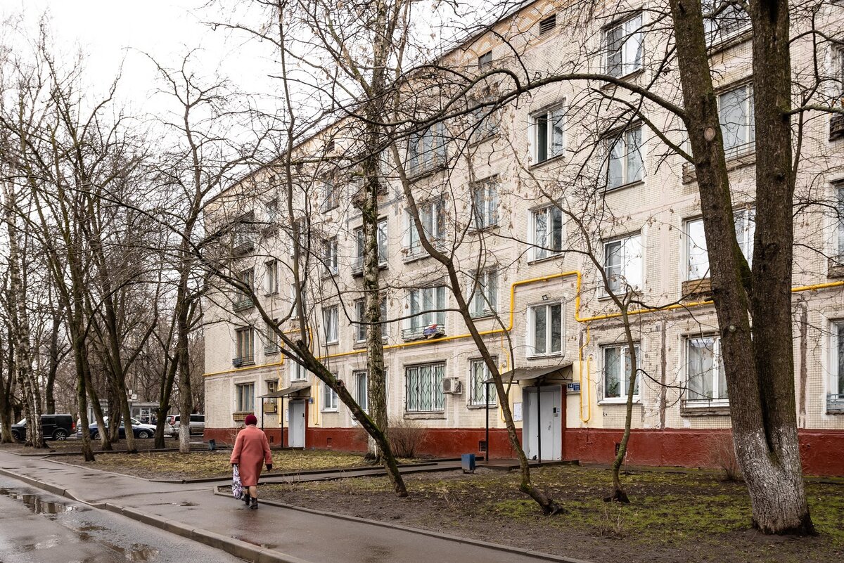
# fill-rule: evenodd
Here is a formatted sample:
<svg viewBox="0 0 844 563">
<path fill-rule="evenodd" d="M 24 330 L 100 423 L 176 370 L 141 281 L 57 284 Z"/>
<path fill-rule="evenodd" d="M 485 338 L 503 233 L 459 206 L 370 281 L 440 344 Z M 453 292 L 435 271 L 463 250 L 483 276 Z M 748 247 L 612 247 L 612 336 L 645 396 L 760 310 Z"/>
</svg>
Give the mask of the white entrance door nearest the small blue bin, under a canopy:
<svg viewBox="0 0 844 563">
<path fill-rule="evenodd" d="M 528 459 L 563 458 L 562 396 L 559 385 L 524 389 L 522 441 Z"/>
</svg>

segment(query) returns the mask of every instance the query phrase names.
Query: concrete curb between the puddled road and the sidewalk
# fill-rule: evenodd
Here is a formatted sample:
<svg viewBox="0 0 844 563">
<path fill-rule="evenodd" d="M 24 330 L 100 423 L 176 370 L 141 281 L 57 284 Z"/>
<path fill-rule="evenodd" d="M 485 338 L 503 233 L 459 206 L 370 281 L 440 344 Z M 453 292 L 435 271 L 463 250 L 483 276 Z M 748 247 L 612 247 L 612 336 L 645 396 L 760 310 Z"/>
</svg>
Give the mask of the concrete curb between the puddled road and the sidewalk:
<svg viewBox="0 0 844 563">
<path fill-rule="evenodd" d="M 270 550 L 260 545 L 250 544 L 241 539 L 230 538 L 228 536 L 217 534 L 203 528 L 192 528 L 181 522 L 168 522 L 159 517 L 144 514 L 129 507 L 121 507 L 120 505 L 111 504 L 111 502 L 89 502 L 79 498 L 78 495 L 69 489 L 61 489 L 56 485 L 45 483 L 44 481 L 33 479 L 29 475 L 20 475 L 5 468 L 0 468 L 0 475 L 6 475 L 13 479 L 24 481 L 27 485 L 33 486 L 36 489 L 47 491 L 52 495 L 62 496 L 74 502 L 87 505 L 93 508 L 100 508 L 115 514 L 122 514 L 123 516 L 132 518 L 133 520 L 159 528 L 170 534 L 176 534 L 182 538 L 190 539 L 199 544 L 208 545 L 215 550 L 225 551 L 230 555 L 239 557 L 242 560 L 252 561 L 252 563 L 311 563 L 293 555 L 282 553 L 281 551 Z"/>
</svg>

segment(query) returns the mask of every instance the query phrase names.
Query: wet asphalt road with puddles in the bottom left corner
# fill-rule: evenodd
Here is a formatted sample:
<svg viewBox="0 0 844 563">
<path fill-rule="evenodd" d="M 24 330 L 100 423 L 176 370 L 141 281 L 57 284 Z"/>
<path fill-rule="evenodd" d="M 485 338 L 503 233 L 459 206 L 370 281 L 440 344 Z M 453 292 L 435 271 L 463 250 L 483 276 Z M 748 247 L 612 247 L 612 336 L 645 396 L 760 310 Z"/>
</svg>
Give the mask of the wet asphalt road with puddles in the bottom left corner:
<svg viewBox="0 0 844 563">
<path fill-rule="evenodd" d="M 0 476 L 0 563 L 243 563 L 222 551 Z"/>
</svg>

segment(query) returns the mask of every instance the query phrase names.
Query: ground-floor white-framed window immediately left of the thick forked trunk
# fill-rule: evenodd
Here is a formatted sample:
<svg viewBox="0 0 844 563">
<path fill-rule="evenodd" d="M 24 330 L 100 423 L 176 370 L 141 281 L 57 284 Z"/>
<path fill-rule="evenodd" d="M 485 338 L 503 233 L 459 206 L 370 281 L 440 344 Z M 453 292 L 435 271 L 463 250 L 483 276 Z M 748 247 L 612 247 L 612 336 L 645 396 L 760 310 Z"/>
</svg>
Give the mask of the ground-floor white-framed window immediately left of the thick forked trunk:
<svg viewBox="0 0 844 563">
<path fill-rule="evenodd" d="M 718 336 L 686 339 L 686 400 L 727 402 L 727 378 Z"/>
</svg>

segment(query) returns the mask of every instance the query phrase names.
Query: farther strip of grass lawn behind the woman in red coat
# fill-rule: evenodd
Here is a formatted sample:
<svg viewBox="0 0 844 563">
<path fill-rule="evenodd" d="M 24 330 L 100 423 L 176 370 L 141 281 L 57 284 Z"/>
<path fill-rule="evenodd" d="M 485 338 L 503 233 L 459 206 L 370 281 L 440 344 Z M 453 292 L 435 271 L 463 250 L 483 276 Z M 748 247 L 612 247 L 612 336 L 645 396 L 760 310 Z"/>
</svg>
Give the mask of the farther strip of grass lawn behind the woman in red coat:
<svg viewBox="0 0 844 563">
<path fill-rule="evenodd" d="M 229 459 L 231 450 L 217 452 L 199 451 L 187 454 L 178 452 L 149 452 L 131 455 L 109 453 L 97 456 L 96 461 L 85 463 L 73 458 L 70 463 L 91 469 L 116 471 L 138 475 L 146 479 L 201 479 L 231 475 Z M 296 472 L 313 469 L 337 469 L 365 465 L 360 453 L 327 450 L 273 451 L 273 473 Z M 267 475 L 266 470 L 264 475 Z"/>
</svg>

